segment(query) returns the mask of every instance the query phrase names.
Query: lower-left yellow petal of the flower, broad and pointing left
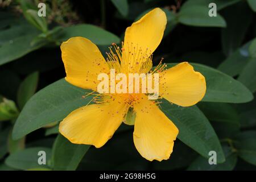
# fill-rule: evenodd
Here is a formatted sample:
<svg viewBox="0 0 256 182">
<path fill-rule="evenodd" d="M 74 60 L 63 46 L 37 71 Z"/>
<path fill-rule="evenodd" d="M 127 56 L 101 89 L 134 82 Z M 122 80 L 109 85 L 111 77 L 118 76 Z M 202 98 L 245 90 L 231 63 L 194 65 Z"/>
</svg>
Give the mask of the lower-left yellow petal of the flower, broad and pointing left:
<svg viewBox="0 0 256 182">
<path fill-rule="evenodd" d="M 126 112 L 125 103 L 118 100 L 80 107 L 60 123 L 59 131 L 72 143 L 99 148 L 112 138 Z"/>
</svg>

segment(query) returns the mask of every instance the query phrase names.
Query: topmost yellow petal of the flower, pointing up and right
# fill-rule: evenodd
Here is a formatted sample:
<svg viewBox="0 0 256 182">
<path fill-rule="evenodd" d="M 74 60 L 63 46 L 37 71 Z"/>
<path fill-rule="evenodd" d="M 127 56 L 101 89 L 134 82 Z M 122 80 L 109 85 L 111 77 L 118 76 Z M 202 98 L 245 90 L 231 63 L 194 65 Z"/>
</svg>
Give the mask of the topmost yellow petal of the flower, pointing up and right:
<svg viewBox="0 0 256 182">
<path fill-rule="evenodd" d="M 146 58 L 149 57 L 159 46 L 166 23 L 166 14 L 156 8 L 126 28 L 122 53 L 123 62 L 129 65 L 134 57 L 136 61 L 139 61 L 140 53 Z M 140 53 L 139 50 L 141 50 Z"/>
</svg>

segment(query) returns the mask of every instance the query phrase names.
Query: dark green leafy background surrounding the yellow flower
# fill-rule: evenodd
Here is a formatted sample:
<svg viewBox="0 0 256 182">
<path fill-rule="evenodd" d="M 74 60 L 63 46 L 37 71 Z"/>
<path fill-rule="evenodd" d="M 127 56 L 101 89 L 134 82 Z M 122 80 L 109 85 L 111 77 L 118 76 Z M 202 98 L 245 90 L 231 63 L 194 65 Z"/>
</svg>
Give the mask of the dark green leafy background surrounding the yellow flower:
<svg viewBox="0 0 256 182">
<path fill-rule="evenodd" d="M 39 2 L 46 17 L 38 16 Z M 216 17 L 208 15 L 212 2 Z M 255 2 L 0 0 L 0 170 L 255 170 Z M 91 98 L 63 79 L 61 42 L 83 36 L 105 55 L 126 27 L 155 7 L 166 13 L 167 27 L 154 65 L 160 57 L 168 67 L 189 61 L 207 80 L 196 106 L 162 100 L 162 111 L 180 130 L 171 158 L 143 159 L 133 126 L 125 124 L 100 149 L 70 143 L 58 134 L 59 122 Z M 46 165 L 38 164 L 42 150 Z M 208 163 L 211 150 L 217 165 Z"/>
</svg>

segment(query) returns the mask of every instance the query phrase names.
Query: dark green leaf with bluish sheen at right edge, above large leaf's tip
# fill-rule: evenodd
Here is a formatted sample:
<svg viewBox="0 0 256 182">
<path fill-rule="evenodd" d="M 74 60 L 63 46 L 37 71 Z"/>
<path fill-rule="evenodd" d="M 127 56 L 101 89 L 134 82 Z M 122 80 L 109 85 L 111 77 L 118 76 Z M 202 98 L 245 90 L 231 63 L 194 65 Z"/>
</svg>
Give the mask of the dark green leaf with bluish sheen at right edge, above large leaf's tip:
<svg viewBox="0 0 256 182">
<path fill-rule="evenodd" d="M 239 75 L 243 67 L 245 67 L 251 59 L 249 55 L 249 47 L 252 42 L 253 41 L 247 42 L 241 48 L 238 48 L 219 65 L 218 69 L 232 77 Z"/>
</svg>

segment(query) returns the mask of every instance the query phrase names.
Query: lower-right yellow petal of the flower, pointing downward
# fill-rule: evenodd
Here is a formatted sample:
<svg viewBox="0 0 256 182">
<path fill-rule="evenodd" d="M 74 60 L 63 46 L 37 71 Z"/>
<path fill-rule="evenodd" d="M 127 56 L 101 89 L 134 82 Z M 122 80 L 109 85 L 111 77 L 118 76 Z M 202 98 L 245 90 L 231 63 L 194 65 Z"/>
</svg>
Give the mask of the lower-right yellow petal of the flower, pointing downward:
<svg viewBox="0 0 256 182">
<path fill-rule="evenodd" d="M 179 133 L 177 127 L 147 97 L 135 105 L 134 110 L 136 119 L 133 139 L 139 153 L 150 161 L 169 159 Z"/>
</svg>

